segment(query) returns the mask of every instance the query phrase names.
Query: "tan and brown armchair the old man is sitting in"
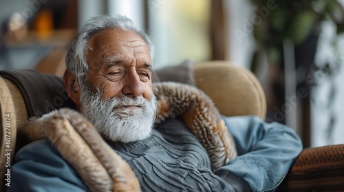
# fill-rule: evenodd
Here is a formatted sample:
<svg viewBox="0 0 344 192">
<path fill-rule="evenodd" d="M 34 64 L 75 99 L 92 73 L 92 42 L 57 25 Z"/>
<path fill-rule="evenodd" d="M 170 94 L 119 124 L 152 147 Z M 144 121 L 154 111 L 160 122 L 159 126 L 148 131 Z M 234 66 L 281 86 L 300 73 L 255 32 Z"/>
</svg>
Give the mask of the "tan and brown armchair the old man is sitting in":
<svg viewBox="0 0 344 192">
<path fill-rule="evenodd" d="M 155 80 L 184 82 L 201 88 L 223 115 L 257 115 L 265 119 L 266 100 L 261 85 L 250 71 L 235 64 L 186 62 L 156 70 L 155 75 Z M 6 165 L 11 165 L 15 152 L 28 143 L 17 128 L 28 117 L 55 108 L 74 108 L 74 104 L 65 93 L 61 77 L 56 75 L 16 70 L 0 71 L 0 76 L 0 191 L 4 191 Z M 230 97 L 228 93 L 232 93 Z M 277 191 L 344 191 L 344 145 L 303 149 Z"/>
</svg>

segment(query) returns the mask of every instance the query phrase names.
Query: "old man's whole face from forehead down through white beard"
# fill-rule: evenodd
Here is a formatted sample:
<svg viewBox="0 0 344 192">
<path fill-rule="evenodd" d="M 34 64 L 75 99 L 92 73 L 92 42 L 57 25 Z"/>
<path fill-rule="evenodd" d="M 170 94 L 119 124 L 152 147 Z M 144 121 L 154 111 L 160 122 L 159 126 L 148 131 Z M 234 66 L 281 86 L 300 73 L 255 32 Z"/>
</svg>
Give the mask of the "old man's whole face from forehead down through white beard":
<svg viewBox="0 0 344 192">
<path fill-rule="evenodd" d="M 112 141 L 150 136 L 157 104 L 144 40 L 133 32 L 105 29 L 89 40 L 87 63 L 80 112 Z"/>
</svg>

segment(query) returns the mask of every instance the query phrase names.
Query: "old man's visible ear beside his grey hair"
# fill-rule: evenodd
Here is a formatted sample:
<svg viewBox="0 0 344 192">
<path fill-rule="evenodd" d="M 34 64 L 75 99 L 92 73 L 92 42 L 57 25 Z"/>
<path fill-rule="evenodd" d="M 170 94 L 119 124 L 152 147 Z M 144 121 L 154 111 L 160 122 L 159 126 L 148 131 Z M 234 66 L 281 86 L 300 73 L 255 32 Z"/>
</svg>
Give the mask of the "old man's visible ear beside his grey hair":
<svg viewBox="0 0 344 192">
<path fill-rule="evenodd" d="M 72 99 L 72 101 L 74 101 L 77 107 L 80 106 L 81 91 L 76 76 L 67 69 L 63 74 L 63 82 L 65 84 L 65 88 L 67 89 L 68 96 Z"/>
</svg>

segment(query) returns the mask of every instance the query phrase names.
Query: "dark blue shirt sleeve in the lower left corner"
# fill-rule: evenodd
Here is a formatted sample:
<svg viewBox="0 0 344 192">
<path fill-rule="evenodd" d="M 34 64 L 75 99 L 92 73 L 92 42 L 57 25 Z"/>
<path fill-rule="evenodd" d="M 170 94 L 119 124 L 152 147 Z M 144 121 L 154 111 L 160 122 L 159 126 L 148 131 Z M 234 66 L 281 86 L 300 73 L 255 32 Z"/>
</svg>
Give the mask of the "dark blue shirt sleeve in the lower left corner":
<svg viewBox="0 0 344 192">
<path fill-rule="evenodd" d="M 86 191 L 78 174 L 45 139 L 19 150 L 15 162 L 7 191 Z"/>
</svg>

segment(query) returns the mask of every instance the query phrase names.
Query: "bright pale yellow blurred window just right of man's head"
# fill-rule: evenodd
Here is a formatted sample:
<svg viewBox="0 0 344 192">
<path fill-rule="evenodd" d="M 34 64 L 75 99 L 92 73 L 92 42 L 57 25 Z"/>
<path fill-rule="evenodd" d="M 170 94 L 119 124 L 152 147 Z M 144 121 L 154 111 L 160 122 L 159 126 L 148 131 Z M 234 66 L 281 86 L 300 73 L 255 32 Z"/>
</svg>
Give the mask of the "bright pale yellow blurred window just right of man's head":
<svg viewBox="0 0 344 192">
<path fill-rule="evenodd" d="M 147 15 L 155 68 L 211 59 L 210 0 L 148 0 Z"/>
</svg>

